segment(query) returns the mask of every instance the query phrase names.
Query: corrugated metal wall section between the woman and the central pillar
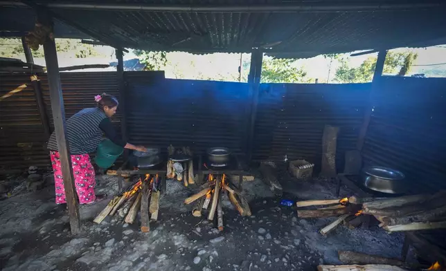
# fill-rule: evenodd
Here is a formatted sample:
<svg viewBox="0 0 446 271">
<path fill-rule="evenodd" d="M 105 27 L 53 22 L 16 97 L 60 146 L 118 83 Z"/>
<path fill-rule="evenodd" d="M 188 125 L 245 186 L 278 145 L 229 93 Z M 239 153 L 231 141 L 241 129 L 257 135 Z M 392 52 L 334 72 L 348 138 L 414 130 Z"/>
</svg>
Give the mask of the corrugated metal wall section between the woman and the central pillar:
<svg viewBox="0 0 446 271">
<path fill-rule="evenodd" d="M 248 84 L 199 80 L 152 80 L 127 72 L 127 129 L 134 144 L 208 147 L 245 152 Z"/>
</svg>

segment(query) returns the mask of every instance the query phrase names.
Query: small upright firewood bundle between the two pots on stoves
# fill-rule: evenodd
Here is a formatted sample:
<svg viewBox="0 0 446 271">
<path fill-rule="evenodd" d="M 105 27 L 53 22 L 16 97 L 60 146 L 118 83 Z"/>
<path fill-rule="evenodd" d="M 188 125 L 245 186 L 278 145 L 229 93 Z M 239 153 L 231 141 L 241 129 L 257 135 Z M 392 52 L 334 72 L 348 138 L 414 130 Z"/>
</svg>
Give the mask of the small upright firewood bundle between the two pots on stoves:
<svg viewBox="0 0 446 271">
<path fill-rule="evenodd" d="M 167 163 L 167 174 L 166 177 L 169 179 L 177 179 L 184 183 L 184 186 L 193 185 L 195 183 L 195 175 L 192 160 L 192 151 L 189 147 L 177 148 L 170 145 L 168 147 L 169 157 L 172 158 L 174 155 L 184 156 L 190 158 L 186 162 L 175 162 L 169 158 Z"/>
</svg>

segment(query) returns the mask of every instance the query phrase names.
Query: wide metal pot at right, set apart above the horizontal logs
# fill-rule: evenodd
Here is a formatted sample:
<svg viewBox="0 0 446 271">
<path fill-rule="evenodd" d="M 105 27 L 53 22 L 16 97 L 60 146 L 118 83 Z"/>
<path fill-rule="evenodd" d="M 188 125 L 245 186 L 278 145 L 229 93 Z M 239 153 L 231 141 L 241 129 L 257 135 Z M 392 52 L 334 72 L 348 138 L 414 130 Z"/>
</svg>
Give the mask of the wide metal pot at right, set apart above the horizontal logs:
<svg viewBox="0 0 446 271">
<path fill-rule="evenodd" d="M 400 194 L 407 191 L 404 174 L 389 167 L 366 167 L 361 172 L 365 187 L 388 194 Z"/>
</svg>

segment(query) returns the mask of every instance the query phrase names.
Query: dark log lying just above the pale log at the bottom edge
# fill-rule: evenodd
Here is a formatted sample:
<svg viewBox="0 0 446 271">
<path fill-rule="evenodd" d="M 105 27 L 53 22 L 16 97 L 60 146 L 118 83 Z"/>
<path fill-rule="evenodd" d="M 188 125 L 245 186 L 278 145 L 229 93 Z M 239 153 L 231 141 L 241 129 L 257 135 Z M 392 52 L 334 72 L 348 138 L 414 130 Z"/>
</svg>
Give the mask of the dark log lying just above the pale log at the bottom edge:
<svg viewBox="0 0 446 271">
<path fill-rule="evenodd" d="M 385 265 L 396 265 L 396 266 L 406 266 L 404 261 L 398 259 L 384 258 L 381 256 L 370 255 L 359 252 L 351 252 L 339 250 L 339 261 L 344 264 L 385 264 Z"/>
</svg>

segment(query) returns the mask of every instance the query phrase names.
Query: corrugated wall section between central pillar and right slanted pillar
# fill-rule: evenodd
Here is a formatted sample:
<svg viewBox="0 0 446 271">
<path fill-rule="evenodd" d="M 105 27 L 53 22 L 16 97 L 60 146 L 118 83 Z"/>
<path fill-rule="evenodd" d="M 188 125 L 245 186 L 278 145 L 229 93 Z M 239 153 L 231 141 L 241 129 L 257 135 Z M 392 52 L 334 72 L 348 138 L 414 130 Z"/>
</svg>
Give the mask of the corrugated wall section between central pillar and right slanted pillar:
<svg viewBox="0 0 446 271">
<path fill-rule="evenodd" d="M 265 84 L 259 97 L 254 158 L 321 163 L 326 124 L 339 127 L 337 167 L 355 149 L 371 84 Z M 271 140 L 271 141 L 269 141 Z"/>
</svg>

